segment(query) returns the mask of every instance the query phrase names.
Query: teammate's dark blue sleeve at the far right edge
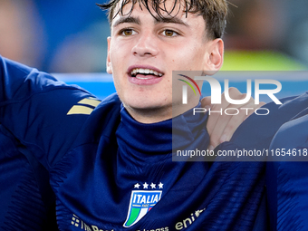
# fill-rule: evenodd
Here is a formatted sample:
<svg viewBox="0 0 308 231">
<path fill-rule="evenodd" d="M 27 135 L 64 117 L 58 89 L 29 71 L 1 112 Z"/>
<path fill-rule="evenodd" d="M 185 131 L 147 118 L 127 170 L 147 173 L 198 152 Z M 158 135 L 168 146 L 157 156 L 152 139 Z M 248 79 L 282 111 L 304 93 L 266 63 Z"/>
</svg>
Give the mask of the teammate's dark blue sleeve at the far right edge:
<svg viewBox="0 0 308 231">
<path fill-rule="evenodd" d="M 271 143 L 270 149 L 296 150 L 298 160 L 294 161 L 294 156 L 286 155 L 279 159 L 280 162 L 273 162 L 268 166 L 268 180 L 274 183 L 269 189 L 276 201 L 271 202 L 270 206 L 277 230 L 308 229 L 307 119 L 305 110 L 293 120 L 284 123 Z M 302 155 L 306 151 L 306 157 L 299 159 L 299 151 Z"/>
</svg>

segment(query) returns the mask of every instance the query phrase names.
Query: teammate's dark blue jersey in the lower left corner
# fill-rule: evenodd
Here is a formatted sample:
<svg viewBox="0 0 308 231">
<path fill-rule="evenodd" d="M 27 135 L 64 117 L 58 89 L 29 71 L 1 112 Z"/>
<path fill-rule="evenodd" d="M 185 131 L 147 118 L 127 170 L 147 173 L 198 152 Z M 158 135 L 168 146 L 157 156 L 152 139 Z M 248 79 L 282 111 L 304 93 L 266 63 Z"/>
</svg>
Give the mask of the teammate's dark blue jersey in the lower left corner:
<svg viewBox="0 0 308 231">
<path fill-rule="evenodd" d="M 48 172 L 29 158 L 0 125 L 1 230 L 57 230 Z"/>
</svg>

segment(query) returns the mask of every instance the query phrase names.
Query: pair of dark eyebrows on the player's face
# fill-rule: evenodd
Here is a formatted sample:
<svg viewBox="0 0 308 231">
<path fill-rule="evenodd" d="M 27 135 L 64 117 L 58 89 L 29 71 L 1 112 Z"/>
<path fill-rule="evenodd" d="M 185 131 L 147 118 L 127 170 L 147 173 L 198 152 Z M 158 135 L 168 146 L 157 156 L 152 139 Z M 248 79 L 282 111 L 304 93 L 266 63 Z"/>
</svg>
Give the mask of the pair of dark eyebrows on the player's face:
<svg viewBox="0 0 308 231">
<path fill-rule="evenodd" d="M 154 24 L 182 24 L 188 26 L 188 24 L 186 24 L 177 17 L 163 17 L 163 18 L 156 17 L 154 18 L 154 20 L 155 20 Z M 140 17 L 133 17 L 133 16 L 121 17 L 113 24 L 113 27 L 119 24 L 141 24 L 141 20 Z"/>
</svg>

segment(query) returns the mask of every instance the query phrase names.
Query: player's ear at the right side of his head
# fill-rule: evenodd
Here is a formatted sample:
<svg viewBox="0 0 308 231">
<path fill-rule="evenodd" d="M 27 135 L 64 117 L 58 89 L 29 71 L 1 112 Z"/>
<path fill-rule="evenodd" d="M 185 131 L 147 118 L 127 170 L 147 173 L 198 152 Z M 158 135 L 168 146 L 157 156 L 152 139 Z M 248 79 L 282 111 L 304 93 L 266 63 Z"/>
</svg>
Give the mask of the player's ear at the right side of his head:
<svg viewBox="0 0 308 231">
<path fill-rule="evenodd" d="M 207 57 L 205 57 L 207 70 L 204 71 L 218 72 L 224 63 L 224 42 L 218 38 L 207 43 Z"/>
</svg>

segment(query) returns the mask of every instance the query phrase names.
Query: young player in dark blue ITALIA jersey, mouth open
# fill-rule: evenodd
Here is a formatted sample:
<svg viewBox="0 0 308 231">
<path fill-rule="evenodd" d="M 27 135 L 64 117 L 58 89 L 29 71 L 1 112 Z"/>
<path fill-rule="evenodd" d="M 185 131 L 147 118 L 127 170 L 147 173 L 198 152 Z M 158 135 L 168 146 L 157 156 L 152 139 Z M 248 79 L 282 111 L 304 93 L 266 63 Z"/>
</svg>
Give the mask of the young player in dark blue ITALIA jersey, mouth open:
<svg viewBox="0 0 308 231">
<path fill-rule="evenodd" d="M 2 132 L 48 171 L 58 228 L 262 230 L 263 162 L 172 161 L 172 120 L 181 124 L 176 146 L 207 149 L 216 131 L 172 99 L 172 71 L 220 69 L 226 1 L 100 6 L 110 12 L 107 72 L 117 90 L 104 101 L 0 58 Z"/>
</svg>

